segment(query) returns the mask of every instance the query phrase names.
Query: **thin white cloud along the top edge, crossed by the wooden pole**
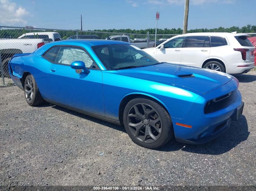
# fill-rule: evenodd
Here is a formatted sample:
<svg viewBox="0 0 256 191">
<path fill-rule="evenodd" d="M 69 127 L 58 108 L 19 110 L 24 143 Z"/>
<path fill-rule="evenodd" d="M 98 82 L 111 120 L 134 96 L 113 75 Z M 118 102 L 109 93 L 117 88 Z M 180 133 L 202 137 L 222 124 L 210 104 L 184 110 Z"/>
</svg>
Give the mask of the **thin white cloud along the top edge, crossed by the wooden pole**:
<svg viewBox="0 0 256 191">
<path fill-rule="evenodd" d="M 231 4 L 236 0 L 190 0 L 192 5 L 203 5 L 209 3 Z M 185 0 L 148 0 L 149 4 L 157 5 L 184 5 Z"/>
</svg>

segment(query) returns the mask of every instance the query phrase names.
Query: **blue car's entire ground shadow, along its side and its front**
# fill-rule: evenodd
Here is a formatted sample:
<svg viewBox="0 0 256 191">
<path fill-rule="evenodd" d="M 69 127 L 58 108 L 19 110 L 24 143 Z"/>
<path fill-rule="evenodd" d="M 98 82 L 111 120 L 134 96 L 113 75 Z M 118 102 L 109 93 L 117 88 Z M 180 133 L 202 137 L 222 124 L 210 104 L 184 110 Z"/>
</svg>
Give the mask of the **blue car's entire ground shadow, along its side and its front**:
<svg viewBox="0 0 256 191">
<path fill-rule="evenodd" d="M 104 121 L 95 117 L 91 117 L 73 110 L 69 110 L 64 107 L 60 107 L 51 103 L 46 103 L 44 105 L 40 105 L 37 107 L 52 107 L 56 110 L 60 110 L 60 111 L 69 113 L 71 115 L 78 116 L 95 123 L 99 123 L 109 128 L 116 129 L 121 132 L 126 132 L 123 126 L 115 125 L 113 123 L 109 123 L 107 121 Z M 225 132 L 223 135 L 212 140 L 209 143 L 202 144 L 202 145 L 191 145 L 191 144 L 177 142 L 175 140 L 175 137 L 173 137 L 167 144 L 155 150 L 165 151 L 165 152 L 182 150 L 182 151 L 198 153 L 198 154 L 218 155 L 218 154 L 223 154 L 225 152 L 230 151 L 232 148 L 234 148 L 241 142 L 247 140 L 249 134 L 250 132 L 248 132 L 247 120 L 245 116 L 242 115 L 238 121 L 231 122 L 231 126 L 227 132 Z"/>
</svg>

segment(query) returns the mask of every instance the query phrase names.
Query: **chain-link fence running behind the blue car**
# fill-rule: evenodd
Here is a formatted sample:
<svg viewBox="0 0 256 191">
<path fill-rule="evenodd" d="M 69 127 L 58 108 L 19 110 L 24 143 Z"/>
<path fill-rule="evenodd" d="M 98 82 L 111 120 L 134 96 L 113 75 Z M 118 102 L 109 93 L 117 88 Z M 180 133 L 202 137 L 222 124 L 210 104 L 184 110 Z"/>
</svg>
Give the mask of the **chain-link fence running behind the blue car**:
<svg viewBox="0 0 256 191">
<path fill-rule="evenodd" d="M 0 86 L 12 83 L 8 61 L 19 53 L 32 53 L 46 43 L 69 39 L 107 39 L 132 43 L 141 49 L 158 46 L 177 34 L 131 34 L 0 26 Z M 256 33 L 250 33 L 256 37 Z M 156 40 L 156 43 L 155 43 Z"/>
</svg>

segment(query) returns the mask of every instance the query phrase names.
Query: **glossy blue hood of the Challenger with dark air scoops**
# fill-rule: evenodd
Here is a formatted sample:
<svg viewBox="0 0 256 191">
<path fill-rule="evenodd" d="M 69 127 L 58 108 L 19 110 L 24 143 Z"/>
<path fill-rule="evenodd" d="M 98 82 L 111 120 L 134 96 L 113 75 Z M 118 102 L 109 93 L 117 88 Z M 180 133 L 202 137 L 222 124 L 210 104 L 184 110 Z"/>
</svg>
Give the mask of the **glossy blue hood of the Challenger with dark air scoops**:
<svg viewBox="0 0 256 191">
<path fill-rule="evenodd" d="M 228 83 L 233 77 L 223 72 L 187 65 L 163 63 L 118 70 L 123 75 L 176 84 L 195 91 L 206 93 Z"/>
</svg>

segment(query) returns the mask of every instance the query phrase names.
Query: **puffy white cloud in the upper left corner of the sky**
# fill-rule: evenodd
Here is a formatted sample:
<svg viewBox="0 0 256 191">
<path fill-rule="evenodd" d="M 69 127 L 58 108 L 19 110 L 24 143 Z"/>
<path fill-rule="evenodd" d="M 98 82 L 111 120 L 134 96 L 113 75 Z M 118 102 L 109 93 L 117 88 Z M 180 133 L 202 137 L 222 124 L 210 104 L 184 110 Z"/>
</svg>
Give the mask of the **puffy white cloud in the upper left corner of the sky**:
<svg viewBox="0 0 256 191">
<path fill-rule="evenodd" d="M 11 0 L 0 0 L 0 23 L 4 25 L 24 25 L 32 15 Z"/>
</svg>

